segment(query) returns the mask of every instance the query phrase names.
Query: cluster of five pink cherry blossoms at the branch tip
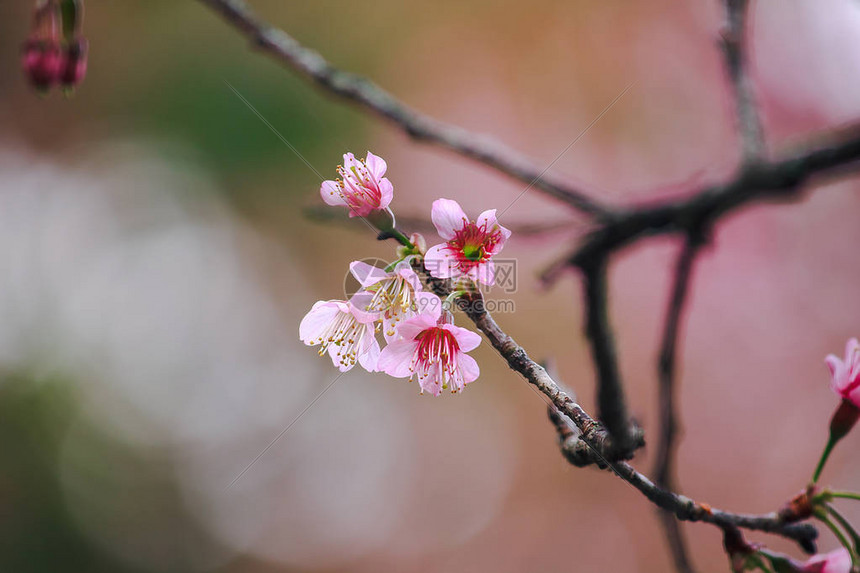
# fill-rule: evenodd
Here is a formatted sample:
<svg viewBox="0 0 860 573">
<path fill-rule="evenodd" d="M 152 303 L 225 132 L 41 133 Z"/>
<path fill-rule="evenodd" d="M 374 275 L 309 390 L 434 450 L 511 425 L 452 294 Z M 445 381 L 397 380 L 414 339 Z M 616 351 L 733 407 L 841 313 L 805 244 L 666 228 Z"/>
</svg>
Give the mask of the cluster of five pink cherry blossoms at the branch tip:
<svg viewBox="0 0 860 573">
<path fill-rule="evenodd" d="M 347 207 L 350 217 L 364 218 L 379 229 L 380 238 L 395 238 L 401 246 L 397 260 L 385 269 L 352 262 L 349 271 L 360 285 L 358 292 L 348 300 L 314 304 L 299 326 L 299 337 L 319 346 L 320 356 L 328 354 L 341 372 L 359 364 L 368 372 L 417 379 L 422 393 L 458 393 L 480 374 L 467 353 L 481 337 L 454 324 L 451 302 L 476 284 L 494 283 L 492 258 L 511 233 L 499 224 L 495 209 L 472 220 L 456 201 L 437 199 L 431 219 L 442 242 L 427 249 L 422 236 L 406 237 L 397 230 L 387 169 L 369 151 L 364 161 L 346 153 L 338 178 L 322 183 L 320 195 L 328 205 Z M 443 301 L 426 290 L 422 275 L 450 279 L 452 295 Z"/>
</svg>

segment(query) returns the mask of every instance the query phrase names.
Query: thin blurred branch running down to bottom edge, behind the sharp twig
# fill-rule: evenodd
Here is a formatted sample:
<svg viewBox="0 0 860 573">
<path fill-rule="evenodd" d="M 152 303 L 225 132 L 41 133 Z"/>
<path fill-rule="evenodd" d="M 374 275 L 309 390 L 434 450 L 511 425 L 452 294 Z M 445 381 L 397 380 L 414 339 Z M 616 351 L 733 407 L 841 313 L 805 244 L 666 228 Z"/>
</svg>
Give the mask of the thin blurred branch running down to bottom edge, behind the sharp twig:
<svg viewBox="0 0 860 573">
<path fill-rule="evenodd" d="M 654 480 L 658 487 L 677 491 L 674 479 L 674 460 L 677 434 L 677 414 L 675 409 L 675 354 L 678 346 L 678 330 L 680 329 L 681 314 L 687 298 L 690 285 L 690 274 L 693 262 L 701 244 L 700 237 L 691 237 L 685 243 L 675 268 L 675 281 L 666 313 L 663 330 L 663 341 L 660 345 L 658 361 L 659 378 L 659 419 L 660 430 L 657 437 L 657 455 L 654 460 Z M 660 522 L 663 525 L 675 568 L 681 572 L 692 572 L 693 567 L 688 556 L 684 533 L 675 516 L 662 510 L 659 511 Z"/>
</svg>

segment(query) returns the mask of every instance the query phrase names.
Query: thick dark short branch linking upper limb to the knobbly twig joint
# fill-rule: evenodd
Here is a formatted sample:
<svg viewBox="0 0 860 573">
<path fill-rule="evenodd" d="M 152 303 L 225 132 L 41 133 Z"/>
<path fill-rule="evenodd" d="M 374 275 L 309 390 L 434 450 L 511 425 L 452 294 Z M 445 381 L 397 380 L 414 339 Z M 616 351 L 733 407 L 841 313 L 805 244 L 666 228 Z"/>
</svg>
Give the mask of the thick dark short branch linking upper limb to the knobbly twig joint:
<svg viewBox="0 0 860 573">
<path fill-rule="evenodd" d="M 600 421 L 606 425 L 619 450 L 618 453 L 626 457 L 635 449 L 636 432 L 627 412 L 627 400 L 624 397 L 615 355 L 615 339 L 609 325 L 607 261 L 604 258 L 595 258 L 591 263 L 584 266 L 582 271 L 586 308 L 585 334 L 597 369 L 597 410 Z"/>
</svg>

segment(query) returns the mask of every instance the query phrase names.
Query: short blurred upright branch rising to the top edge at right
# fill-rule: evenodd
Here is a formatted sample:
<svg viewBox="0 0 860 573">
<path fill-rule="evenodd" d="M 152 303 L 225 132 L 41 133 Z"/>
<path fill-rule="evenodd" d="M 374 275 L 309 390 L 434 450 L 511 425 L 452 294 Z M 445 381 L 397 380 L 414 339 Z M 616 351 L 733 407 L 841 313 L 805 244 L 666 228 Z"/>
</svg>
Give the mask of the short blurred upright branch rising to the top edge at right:
<svg viewBox="0 0 860 573">
<path fill-rule="evenodd" d="M 749 50 L 747 14 L 749 0 L 725 0 L 726 29 L 723 32 L 723 55 L 734 92 L 738 132 L 743 147 L 744 162 L 757 160 L 764 150 L 761 121 L 747 73 Z"/>
</svg>

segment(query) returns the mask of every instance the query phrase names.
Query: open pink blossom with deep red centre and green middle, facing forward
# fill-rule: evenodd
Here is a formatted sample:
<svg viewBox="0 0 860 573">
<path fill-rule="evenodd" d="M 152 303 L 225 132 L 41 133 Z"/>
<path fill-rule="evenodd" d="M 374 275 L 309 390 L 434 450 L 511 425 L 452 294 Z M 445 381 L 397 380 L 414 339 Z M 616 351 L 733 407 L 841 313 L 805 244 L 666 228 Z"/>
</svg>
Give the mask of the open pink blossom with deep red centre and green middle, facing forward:
<svg viewBox="0 0 860 573">
<path fill-rule="evenodd" d="M 470 220 L 460 204 L 437 199 L 431 211 L 433 224 L 445 243 L 430 247 L 424 265 L 436 278 L 470 279 L 492 285 L 495 267 L 492 257 L 502 250 L 511 232 L 496 219 L 496 210 L 484 211 Z"/>
</svg>

